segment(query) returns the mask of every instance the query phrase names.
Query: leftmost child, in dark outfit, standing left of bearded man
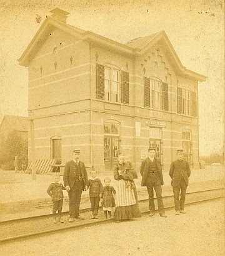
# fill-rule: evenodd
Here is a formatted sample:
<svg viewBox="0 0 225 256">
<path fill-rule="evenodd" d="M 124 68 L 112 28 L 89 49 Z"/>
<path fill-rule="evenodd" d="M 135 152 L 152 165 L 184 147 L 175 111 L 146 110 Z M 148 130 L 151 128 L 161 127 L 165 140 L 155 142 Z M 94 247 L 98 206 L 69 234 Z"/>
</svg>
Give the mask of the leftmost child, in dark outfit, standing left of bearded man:
<svg viewBox="0 0 225 256">
<path fill-rule="evenodd" d="M 64 188 L 62 183 L 59 183 L 60 175 L 58 173 L 53 174 L 54 183 L 51 183 L 47 188 L 47 194 L 51 196 L 53 200 L 53 222 L 57 223 L 56 220 L 56 211 L 58 211 L 59 222 L 64 222 L 61 216 L 63 208 L 63 190 Z"/>
</svg>

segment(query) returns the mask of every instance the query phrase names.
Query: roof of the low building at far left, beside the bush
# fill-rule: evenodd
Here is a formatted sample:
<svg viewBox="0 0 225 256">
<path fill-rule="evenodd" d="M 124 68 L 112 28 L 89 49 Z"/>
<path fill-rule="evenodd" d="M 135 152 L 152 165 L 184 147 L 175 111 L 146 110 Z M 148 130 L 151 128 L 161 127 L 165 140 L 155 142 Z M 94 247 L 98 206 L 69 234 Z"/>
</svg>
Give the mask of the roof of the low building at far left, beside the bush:
<svg viewBox="0 0 225 256">
<path fill-rule="evenodd" d="M 4 122 L 9 125 L 11 131 L 27 132 L 29 128 L 28 117 L 21 117 L 19 115 L 4 115 L 1 125 Z"/>
</svg>

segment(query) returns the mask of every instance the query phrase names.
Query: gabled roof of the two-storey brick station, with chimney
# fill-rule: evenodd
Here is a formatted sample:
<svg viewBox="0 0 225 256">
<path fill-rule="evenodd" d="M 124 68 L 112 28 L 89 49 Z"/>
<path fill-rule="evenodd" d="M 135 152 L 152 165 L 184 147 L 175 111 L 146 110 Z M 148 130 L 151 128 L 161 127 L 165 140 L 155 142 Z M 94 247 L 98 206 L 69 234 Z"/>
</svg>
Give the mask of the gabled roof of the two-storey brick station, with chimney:
<svg viewBox="0 0 225 256">
<path fill-rule="evenodd" d="M 66 16 L 68 16 L 68 13 L 60 9 L 57 9 L 57 12 L 53 11 L 53 16 L 47 16 L 44 23 L 42 23 L 41 28 L 39 28 L 39 30 L 37 31 L 34 38 L 31 40 L 29 45 L 27 46 L 24 53 L 22 53 L 21 58 L 19 58 L 18 60 L 19 65 L 25 67 L 29 66 L 29 61 L 31 61 L 32 58 L 34 58 L 34 55 L 36 54 L 37 50 L 39 50 L 39 48 L 46 40 L 47 34 L 49 33 L 50 29 L 55 27 L 61 29 L 65 33 L 69 33 L 71 36 L 74 36 L 74 38 L 78 38 L 78 40 L 94 42 L 96 45 L 101 45 L 106 48 L 112 48 L 131 57 L 143 55 L 153 45 L 158 43 L 158 41 L 161 41 L 163 42 L 163 45 L 166 48 L 171 63 L 173 63 L 174 67 L 176 67 L 176 70 L 179 74 L 186 75 L 188 77 L 191 77 L 192 79 L 201 82 L 205 81 L 207 78 L 204 75 L 200 75 L 199 73 L 187 70 L 187 68 L 185 68 L 182 65 L 178 55 L 176 54 L 176 51 L 174 50 L 164 30 L 153 35 L 146 36 L 144 38 L 136 38 L 134 40 L 129 41 L 129 43 L 123 44 L 106 38 L 104 36 L 98 35 L 96 33 L 93 33 L 91 31 L 84 31 L 83 29 L 79 29 L 69 24 L 66 24 Z M 60 15 L 58 15 L 57 17 L 57 14 Z M 63 21 L 63 15 L 65 16 L 65 21 Z"/>
</svg>

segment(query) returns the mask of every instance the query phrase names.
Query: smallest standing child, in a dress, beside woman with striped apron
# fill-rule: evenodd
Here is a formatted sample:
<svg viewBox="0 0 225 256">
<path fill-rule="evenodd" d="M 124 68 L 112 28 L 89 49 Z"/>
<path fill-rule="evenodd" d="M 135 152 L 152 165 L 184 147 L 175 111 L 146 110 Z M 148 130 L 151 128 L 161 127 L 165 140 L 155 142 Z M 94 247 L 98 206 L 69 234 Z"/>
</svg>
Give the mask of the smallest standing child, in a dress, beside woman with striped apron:
<svg viewBox="0 0 225 256">
<path fill-rule="evenodd" d="M 110 186 L 110 178 L 106 177 L 104 178 L 104 183 L 106 186 L 103 187 L 103 211 L 106 218 L 111 218 L 111 211 L 112 207 L 115 206 L 115 201 L 113 197 L 116 194 L 116 190 L 113 188 L 113 186 Z M 108 216 L 107 216 L 108 214 Z"/>
</svg>

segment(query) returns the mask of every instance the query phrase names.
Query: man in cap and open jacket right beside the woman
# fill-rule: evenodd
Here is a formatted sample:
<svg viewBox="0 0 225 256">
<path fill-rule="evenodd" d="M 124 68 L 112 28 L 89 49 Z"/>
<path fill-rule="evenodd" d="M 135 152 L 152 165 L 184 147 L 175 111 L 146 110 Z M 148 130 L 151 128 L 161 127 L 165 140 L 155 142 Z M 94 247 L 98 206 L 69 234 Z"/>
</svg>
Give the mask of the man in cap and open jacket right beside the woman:
<svg viewBox="0 0 225 256">
<path fill-rule="evenodd" d="M 158 201 L 159 215 L 161 217 L 166 217 L 163 198 L 162 198 L 162 187 L 163 182 L 163 173 L 162 167 L 159 159 L 155 157 L 156 149 L 154 147 L 149 147 L 148 157 L 143 160 L 141 163 L 141 186 L 146 186 L 149 194 L 149 210 L 150 215 L 154 215 L 155 206 L 154 206 L 154 191 L 156 191 L 156 197 Z"/>
</svg>

